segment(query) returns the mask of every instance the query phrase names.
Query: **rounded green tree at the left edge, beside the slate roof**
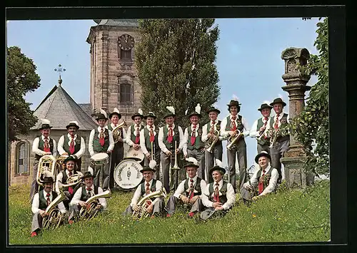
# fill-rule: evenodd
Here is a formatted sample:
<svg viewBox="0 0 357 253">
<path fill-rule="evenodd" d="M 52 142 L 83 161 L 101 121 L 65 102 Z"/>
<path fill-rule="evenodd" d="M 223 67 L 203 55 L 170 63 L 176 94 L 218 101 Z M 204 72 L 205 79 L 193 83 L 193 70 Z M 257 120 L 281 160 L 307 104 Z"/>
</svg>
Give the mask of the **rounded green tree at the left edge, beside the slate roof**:
<svg viewBox="0 0 357 253">
<path fill-rule="evenodd" d="M 36 74 L 34 62 L 27 58 L 17 46 L 7 48 L 6 85 L 9 141 L 17 140 L 16 135 L 26 135 L 36 124 L 37 118 L 26 103 L 24 95 L 39 88 L 41 78 Z"/>
</svg>

